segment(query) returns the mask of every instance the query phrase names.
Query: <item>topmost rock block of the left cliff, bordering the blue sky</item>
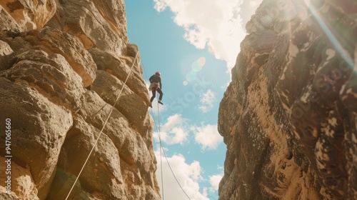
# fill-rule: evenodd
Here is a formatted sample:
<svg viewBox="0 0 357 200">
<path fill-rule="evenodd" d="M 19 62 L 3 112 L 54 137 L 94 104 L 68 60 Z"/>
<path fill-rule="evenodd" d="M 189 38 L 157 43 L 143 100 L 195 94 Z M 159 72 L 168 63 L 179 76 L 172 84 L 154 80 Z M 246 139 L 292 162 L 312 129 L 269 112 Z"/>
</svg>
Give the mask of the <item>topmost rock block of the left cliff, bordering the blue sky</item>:
<svg viewBox="0 0 357 200">
<path fill-rule="evenodd" d="M 49 25 L 75 34 L 85 48 L 96 48 L 108 53 L 126 54 L 124 1 L 67 0 Z"/>
</svg>

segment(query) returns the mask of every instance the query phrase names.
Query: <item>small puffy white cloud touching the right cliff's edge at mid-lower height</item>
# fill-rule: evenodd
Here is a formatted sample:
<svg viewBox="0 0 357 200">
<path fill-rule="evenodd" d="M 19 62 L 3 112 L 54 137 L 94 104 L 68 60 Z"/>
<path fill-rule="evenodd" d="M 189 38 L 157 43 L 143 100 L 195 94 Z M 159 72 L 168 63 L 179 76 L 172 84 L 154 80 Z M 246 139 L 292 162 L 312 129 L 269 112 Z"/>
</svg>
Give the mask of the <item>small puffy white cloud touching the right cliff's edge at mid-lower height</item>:
<svg viewBox="0 0 357 200">
<path fill-rule="evenodd" d="M 195 141 L 202 145 L 202 149 L 216 149 L 218 144 L 223 141 L 223 137 L 218 133 L 217 125 L 208 124 L 206 126 L 193 126 L 192 131 L 195 131 Z"/>
</svg>

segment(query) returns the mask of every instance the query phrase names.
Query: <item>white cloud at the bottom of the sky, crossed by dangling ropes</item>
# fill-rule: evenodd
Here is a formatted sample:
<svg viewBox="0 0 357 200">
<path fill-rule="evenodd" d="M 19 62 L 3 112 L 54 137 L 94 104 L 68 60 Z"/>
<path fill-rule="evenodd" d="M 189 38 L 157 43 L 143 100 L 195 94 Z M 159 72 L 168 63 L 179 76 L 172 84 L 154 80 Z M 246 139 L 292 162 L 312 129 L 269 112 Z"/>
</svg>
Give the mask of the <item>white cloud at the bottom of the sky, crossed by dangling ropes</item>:
<svg viewBox="0 0 357 200">
<path fill-rule="evenodd" d="M 181 154 L 167 158 L 178 183 L 183 189 L 182 190 L 172 174 L 164 155 L 160 156 L 159 151 L 155 151 L 155 155 L 158 160 L 156 177 L 159 182 L 160 189 L 162 190 L 162 187 L 164 187 L 164 199 L 182 200 L 188 199 L 188 196 L 190 199 L 194 200 L 208 200 L 207 192 L 203 189 L 203 193 L 201 194 L 199 191 L 200 188 L 198 181 L 203 178 L 201 176 L 202 169 L 198 161 L 193 161 L 191 164 L 188 164 L 186 163 L 186 159 Z M 163 183 L 161 182 L 161 161 L 162 178 L 164 180 Z"/>
</svg>

